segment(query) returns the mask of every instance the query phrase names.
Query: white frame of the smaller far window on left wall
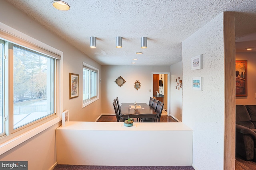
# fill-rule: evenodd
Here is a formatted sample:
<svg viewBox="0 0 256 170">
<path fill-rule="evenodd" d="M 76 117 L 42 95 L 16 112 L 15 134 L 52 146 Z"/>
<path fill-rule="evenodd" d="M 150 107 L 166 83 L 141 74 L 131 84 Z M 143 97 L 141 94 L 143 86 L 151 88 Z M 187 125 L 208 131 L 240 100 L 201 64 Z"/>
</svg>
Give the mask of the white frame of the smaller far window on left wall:
<svg viewBox="0 0 256 170">
<path fill-rule="evenodd" d="M 84 101 L 84 98 L 82 98 L 82 107 L 86 107 L 89 104 L 91 104 L 91 103 L 93 103 L 93 102 L 95 102 L 96 100 L 99 99 L 99 69 L 83 62 L 83 67 L 82 67 L 83 68 L 82 69 L 82 75 L 83 76 L 84 76 L 84 67 L 88 68 L 88 70 L 91 70 L 91 71 L 94 71 L 94 72 L 96 71 L 97 72 L 97 92 L 96 92 L 96 97 L 94 97 L 92 99 Z M 82 80 L 84 80 L 84 78 Z M 84 83 L 84 81 L 83 81 L 83 83 Z M 83 94 L 84 94 L 84 89 L 83 89 Z"/>
</svg>

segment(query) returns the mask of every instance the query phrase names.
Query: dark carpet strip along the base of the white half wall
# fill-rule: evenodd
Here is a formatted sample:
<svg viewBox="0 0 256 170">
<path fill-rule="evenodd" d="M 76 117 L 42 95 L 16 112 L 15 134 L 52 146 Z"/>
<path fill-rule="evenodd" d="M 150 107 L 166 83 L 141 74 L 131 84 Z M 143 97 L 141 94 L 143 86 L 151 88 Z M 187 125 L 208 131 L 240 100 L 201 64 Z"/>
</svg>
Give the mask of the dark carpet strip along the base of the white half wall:
<svg viewBox="0 0 256 170">
<path fill-rule="evenodd" d="M 192 166 L 84 166 L 57 165 L 53 170 L 195 170 Z"/>
</svg>

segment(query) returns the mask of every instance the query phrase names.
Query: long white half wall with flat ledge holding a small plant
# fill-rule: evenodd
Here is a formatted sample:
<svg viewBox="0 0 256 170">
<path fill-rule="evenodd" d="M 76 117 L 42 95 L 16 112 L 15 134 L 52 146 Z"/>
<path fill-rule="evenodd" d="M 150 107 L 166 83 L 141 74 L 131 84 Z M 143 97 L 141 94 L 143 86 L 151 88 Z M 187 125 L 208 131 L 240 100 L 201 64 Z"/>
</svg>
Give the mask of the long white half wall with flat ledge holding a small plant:
<svg viewBox="0 0 256 170">
<path fill-rule="evenodd" d="M 58 164 L 192 166 L 193 131 L 183 123 L 66 122 L 56 129 Z"/>
</svg>

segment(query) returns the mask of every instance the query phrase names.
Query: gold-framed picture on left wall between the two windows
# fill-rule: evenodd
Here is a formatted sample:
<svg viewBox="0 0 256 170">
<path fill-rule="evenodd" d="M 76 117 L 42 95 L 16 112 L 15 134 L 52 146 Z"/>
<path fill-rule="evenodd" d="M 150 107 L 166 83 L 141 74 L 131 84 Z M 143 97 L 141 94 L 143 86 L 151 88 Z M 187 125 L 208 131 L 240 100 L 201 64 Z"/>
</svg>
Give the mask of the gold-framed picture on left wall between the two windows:
<svg viewBox="0 0 256 170">
<path fill-rule="evenodd" d="M 78 97 L 79 75 L 69 73 L 69 99 Z"/>
</svg>

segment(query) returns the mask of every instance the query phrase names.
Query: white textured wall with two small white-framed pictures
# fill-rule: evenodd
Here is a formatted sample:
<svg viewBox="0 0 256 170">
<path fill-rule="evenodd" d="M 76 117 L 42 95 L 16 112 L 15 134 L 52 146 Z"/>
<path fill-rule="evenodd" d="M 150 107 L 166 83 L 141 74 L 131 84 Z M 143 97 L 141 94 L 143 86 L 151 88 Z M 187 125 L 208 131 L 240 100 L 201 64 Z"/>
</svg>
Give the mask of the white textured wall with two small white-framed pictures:
<svg viewBox="0 0 256 170">
<path fill-rule="evenodd" d="M 223 14 L 182 42 L 183 117 L 193 134 L 193 167 L 222 170 L 224 165 Z M 191 58 L 204 55 L 204 68 L 191 70 Z M 204 77 L 203 91 L 192 90 L 192 77 Z"/>
</svg>

